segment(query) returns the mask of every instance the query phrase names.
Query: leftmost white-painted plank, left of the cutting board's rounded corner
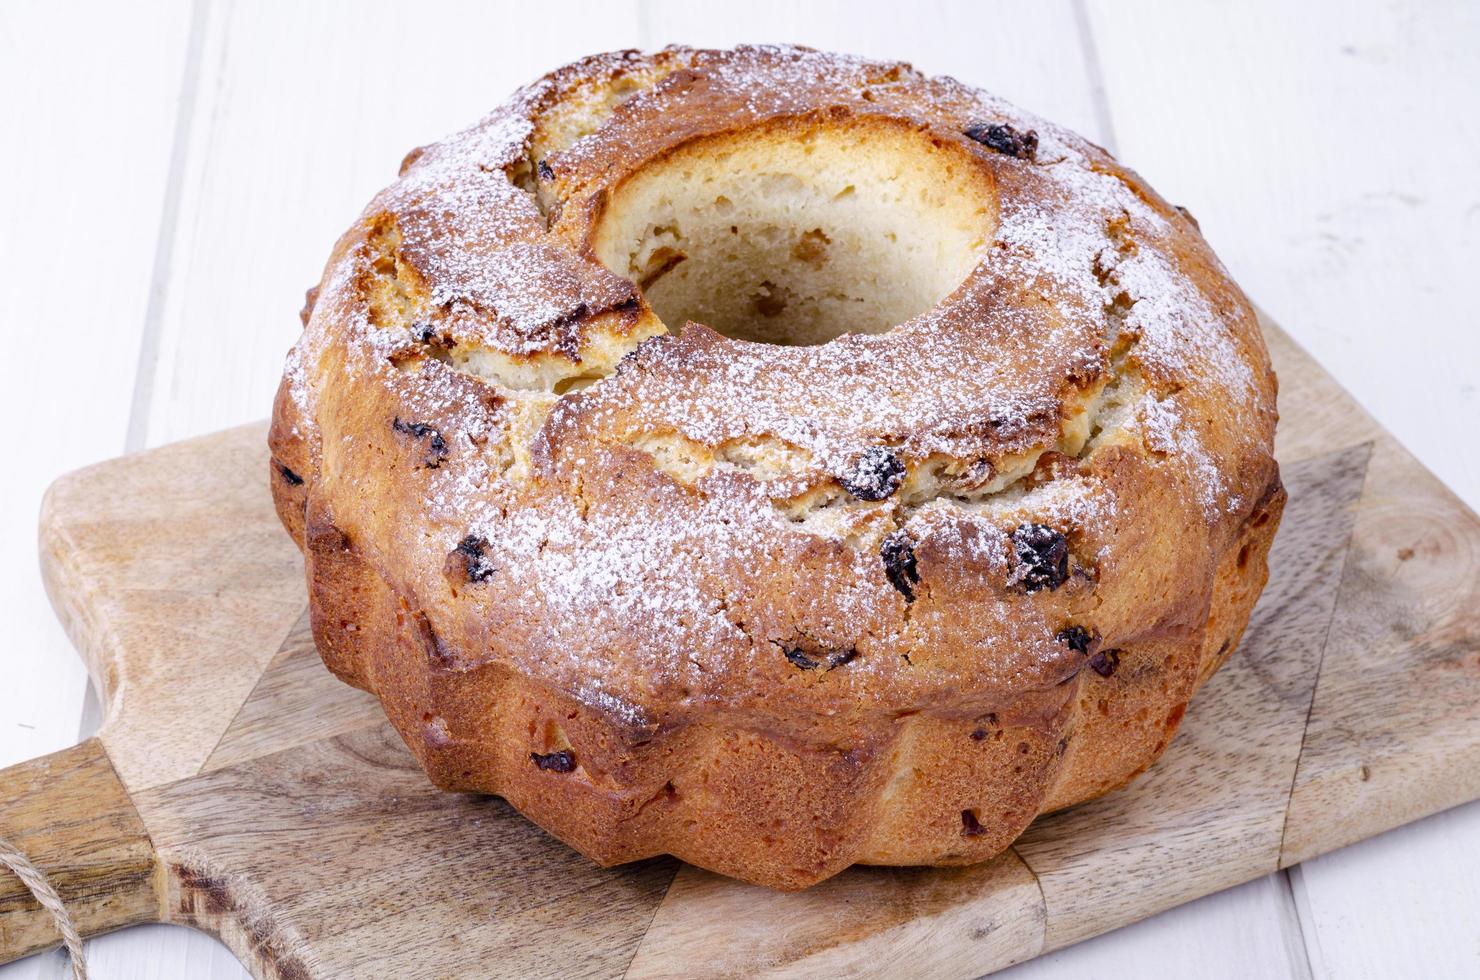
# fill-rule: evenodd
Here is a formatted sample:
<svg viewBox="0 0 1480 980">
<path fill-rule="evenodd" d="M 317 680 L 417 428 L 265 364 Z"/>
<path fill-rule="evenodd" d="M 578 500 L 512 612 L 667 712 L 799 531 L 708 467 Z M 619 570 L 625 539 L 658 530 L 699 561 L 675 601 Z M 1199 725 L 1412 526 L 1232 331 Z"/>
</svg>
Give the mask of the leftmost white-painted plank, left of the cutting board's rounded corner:
<svg viewBox="0 0 1480 980">
<path fill-rule="evenodd" d="M 121 4 L 0 4 L 0 321 L 19 453 L 0 480 L 0 765 L 77 740 L 86 671 L 36 567 L 36 515 L 62 472 L 124 449 L 169 184 L 189 9 L 148 31 Z M 118 43 L 127 37 L 129 43 Z M 61 955 L 0 967 L 61 977 Z"/>
</svg>

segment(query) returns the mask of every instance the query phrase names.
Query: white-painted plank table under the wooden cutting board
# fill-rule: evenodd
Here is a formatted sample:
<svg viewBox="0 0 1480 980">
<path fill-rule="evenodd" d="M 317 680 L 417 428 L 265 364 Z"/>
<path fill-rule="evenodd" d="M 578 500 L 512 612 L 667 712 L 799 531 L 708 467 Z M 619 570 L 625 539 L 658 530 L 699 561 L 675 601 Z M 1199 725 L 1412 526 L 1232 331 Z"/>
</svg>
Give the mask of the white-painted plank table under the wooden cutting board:
<svg viewBox="0 0 1480 980">
<path fill-rule="evenodd" d="M 52 478 L 265 416 L 303 287 L 410 147 L 583 53 L 747 40 L 903 58 L 1109 147 L 1480 508 L 1480 4 L 4 0 L 0 765 L 96 727 L 36 571 Z M 89 946 L 105 980 L 244 976 L 181 928 Z M 1480 976 L 1480 804 L 1009 974 L 1148 970 Z"/>
</svg>

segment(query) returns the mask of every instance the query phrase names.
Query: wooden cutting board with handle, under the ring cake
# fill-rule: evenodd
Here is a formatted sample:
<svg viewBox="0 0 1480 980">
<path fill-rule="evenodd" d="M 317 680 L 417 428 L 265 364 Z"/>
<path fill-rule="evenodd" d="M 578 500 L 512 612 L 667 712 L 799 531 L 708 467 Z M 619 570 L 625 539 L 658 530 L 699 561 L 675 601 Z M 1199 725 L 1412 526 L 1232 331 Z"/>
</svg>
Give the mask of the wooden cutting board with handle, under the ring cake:
<svg viewBox="0 0 1480 980">
<path fill-rule="evenodd" d="M 260 425 L 52 487 L 41 570 L 107 718 L 0 773 L 0 835 L 84 933 L 194 925 L 258 977 L 969 977 L 1474 799 L 1480 520 L 1265 333 L 1291 502 L 1242 650 L 1146 776 L 987 865 L 777 894 L 437 792 L 318 662 Z M 0 879 L 0 959 L 56 942 Z"/>
</svg>

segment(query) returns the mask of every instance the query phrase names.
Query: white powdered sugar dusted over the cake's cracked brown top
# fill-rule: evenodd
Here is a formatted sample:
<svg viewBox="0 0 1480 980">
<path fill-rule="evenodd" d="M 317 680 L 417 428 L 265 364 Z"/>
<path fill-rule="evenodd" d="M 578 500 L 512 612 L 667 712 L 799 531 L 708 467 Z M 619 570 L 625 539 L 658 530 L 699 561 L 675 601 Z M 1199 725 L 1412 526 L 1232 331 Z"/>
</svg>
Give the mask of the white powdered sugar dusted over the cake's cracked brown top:
<svg viewBox="0 0 1480 980">
<path fill-rule="evenodd" d="M 542 114 L 568 86 L 601 86 L 617 67 L 650 68 L 653 80 L 592 132 L 551 145 L 540 170 L 528 154 Z M 679 49 L 582 71 L 530 86 L 410 163 L 366 215 L 394 224 L 397 268 L 373 268 L 369 232 L 352 241 L 287 367 L 295 406 L 340 443 L 333 478 L 351 500 L 373 506 L 391 496 L 377 481 L 392 481 L 395 499 L 404 489 L 419 508 L 386 531 L 394 540 L 364 546 L 395 555 L 379 564 L 460 623 L 450 632 L 496 634 L 487 648 L 460 650 L 468 663 L 537 651 L 543 672 L 632 724 L 656 703 L 771 688 L 777 703 L 826 688 L 903 709 L 1052 687 L 1069 654 L 1054 641 L 1058 623 L 1012 592 L 1008 533 L 1042 523 L 1100 542 L 1076 561 L 1137 560 L 1116 551 L 1110 528 L 1129 509 L 1098 469 L 1098 447 L 1114 440 L 1067 434 L 1114 372 L 1141 379 L 1117 416 L 1122 446 L 1166 460 L 1206 518 L 1184 546 L 1208 551 L 1212 528 L 1243 506 L 1230 460 L 1267 452 L 1271 425 L 1257 340 L 1177 258 L 1215 264 L 1190 226 L 1077 136 L 949 78 L 804 49 Z M 639 302 L 585 247 L 599 194 L 676 141 L 827 111 L 906 118 L 990 170 L 996 235 L 934 309 L 885 335 L 813 348 L 691 326 L 564 397 L 500 388 L 438 360 L 437 345 L 453 345 L 579 363 L 605 329 L 596 315 Z M 1036 158 L 962 135 L 983 121 L 1035 129 Z M 404 277 L 414 296 L 407 321 L 369 315 L 366 283 L 376 275 Z M 411 317 L 437 339 L 420 338 Z M 445 462 L 419 465 L 425 450 L 389 425 L 336 429 L 345 426 L 336 413 L 317 415 L 327 391 L 383 406 L 386 423 L 435 428 Z M 1187 410 L 1209 400 L 1225 406 L 1217 417 Z M 682 484 L 641 450 L 669 437 L 699 452 L 776 444 L 805 462 L 771 483 L 716 466 Z M 1063 475 L 981 497 L 870 500 L 836 534 L 789 523 L 768 496 L 836 490 L 839 474 L 879 447 L 912 472 L 943 459 L 986 471 L 1036 453 L 1069 462 Z M 395 475 L 364 460 L 392 460 Z M 912 537 L 929 576 L 918 600 L 903 598 L 881 565 L 879 542 L 894 531 Z M 488 542 L 494 571 L 456 583 L 453 603 L 445 558 L 469 534 Z M 850 656 L 798 679 L 783 656 L 793 647 L 824 651 L 818 662 Z"/>
</svg>

